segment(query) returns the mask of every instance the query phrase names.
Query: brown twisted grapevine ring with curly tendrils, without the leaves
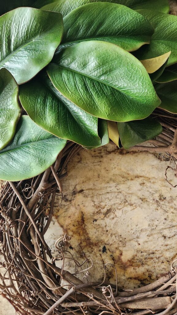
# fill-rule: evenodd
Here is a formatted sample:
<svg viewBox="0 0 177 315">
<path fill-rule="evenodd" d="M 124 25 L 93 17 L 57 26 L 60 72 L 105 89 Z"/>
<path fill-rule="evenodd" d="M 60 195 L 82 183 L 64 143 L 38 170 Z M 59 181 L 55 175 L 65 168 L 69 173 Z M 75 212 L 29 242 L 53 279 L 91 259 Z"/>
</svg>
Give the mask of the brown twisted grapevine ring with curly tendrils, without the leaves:
<svg viewBox="0 0 177 315">
<path fill-rule="evenodd" d="M 177 115 L 161 110 L 153 113 L 163 125 L 163 133 L 149 142 L 153 146 L 132 150 L 167 152 L 176 175 Z M 154 147 L 156 146 L 156 147 Z M 20 314 L 177 314 L 176 263 L 157 281 L 135 290 L 121 290 L 114 284 L 88 282 L 90 260 L 82 265 L 77 278 L 64 270 L 69 237 L 56 241 L 58 255 L 53 257 L 44 235 L 53 216 L 56 194 L 62 194 L 62 178 L 67 163 L 81 147 L 68 142 L 55 165 L 43 174 L 18 183 L 7 182 L 0 194 L 0 254 L 6 272 L 0 274 L 2 295 Z M 168 153 L 169 152 L 169 153 Z M 166 178 L 167 179 L 167 178 Z M 61 268 L 55 261 L 63 263 Z M 3 268 L 3 270 L 4 270 Z M 1 270 L 1 269 L 0 269 Z M 117 275 L 116 275 L 117 277 Z"/>
</svg>

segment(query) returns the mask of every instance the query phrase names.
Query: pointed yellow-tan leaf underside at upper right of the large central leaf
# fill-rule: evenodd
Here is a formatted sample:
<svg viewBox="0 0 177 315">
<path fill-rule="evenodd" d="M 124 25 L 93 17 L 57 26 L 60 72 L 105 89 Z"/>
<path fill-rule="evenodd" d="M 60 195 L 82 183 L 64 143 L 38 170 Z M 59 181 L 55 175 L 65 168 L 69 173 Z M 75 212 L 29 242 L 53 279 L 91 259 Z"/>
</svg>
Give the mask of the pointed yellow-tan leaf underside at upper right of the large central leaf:
<svg viewBox="0 0 177 315">
<path fill-rule="evenodd" d="M 159 68 L 161 68 L 164 65 L 164 63 L 168 60 L 170 54 L 171 54 L 171 51 L 155 58 L 145 59 L 145 60 L 140 60 L 140 61 L 143 64 L 143 66 L 146 68 L 148 73 L 153 73 L 153 72 L 156 72 Z"/>
</svg>

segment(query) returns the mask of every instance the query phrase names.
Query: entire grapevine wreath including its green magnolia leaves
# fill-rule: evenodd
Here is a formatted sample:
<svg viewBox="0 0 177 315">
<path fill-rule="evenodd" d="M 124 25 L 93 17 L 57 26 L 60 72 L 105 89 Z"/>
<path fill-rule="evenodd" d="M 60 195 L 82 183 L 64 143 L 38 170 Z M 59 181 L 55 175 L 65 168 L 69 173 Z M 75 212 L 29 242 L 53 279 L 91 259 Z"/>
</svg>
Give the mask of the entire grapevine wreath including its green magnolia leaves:
<svg viewBox="0 0 177 315">
<path fill-rule="evenodd" d="M 69 236 L 56 240 L 57 256 L 44 239 L 81 148 L 111 140 L 167 152 L 177 175 L 177 17 L 168 1 L 6 0 L 0 15 L 1 294 L 25 315 L 177 314 L 175 261 L 155 282 L 123 290 L 117 274 L 115 284 L 89 282 L 90 260 L 75 261 Z M 65 270 L 67 257 L 79 273 Z"/>
</svg>

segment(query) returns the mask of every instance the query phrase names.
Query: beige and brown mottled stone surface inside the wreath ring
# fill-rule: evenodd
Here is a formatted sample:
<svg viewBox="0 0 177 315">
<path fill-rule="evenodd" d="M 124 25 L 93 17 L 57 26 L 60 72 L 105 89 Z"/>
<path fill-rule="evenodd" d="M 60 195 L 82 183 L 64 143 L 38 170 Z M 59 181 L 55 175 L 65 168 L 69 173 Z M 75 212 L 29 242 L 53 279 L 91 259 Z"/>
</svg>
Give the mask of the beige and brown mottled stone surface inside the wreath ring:
<svg viewBox="0 0 177 315">
<path fill-rule="evenodd" d="M 177 256 L 177 188 L 165 181 L 169 161 L 160 154 L 124 153 L 109 144 L 74 157 L 46 238 L 54 250 L 54 240 L 67 233 L 74 257 L 81 262 L 85 253 L 94 262 L 90 280 L 102 280 L 110 263 L 119 286 L 133 289 L 170 270 Z M 177 184 L 173 172 L 168 176 Z M 70 260 L 65 267 L 80 270 Z M 112 282 L 114 267 L 106 269 Z"/>
</svg>

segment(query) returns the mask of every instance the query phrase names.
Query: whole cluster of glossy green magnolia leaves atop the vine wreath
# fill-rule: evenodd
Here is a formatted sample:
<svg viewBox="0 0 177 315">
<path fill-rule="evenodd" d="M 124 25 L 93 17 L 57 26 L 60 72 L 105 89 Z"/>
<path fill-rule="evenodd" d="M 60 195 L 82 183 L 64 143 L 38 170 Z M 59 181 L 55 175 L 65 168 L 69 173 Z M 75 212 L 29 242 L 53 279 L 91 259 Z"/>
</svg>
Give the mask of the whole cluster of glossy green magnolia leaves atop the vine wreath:
<svg viewBox="0 0 177 315">
<path fill-rule="evenodd" d="M 11 10 L 11 11 L 10 11 Z M 167 0 L 0 4 L 0 178 L 52 165 L 67 140 L 129 148 L 177 112 L 177 17 Z"/>
</svg>

